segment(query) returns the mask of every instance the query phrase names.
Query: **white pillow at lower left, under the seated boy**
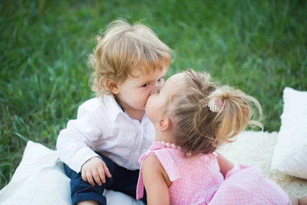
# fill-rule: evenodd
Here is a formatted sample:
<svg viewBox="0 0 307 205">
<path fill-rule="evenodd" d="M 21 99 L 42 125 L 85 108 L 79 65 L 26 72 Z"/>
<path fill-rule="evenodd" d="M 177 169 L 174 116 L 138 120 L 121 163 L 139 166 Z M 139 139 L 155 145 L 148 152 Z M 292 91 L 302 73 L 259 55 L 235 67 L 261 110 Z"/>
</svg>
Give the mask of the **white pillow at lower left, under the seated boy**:
<svg viewBox="0 0 307 205">
<path fill-rule="evenodd" d="M 104 190 L 108 204 L 143 204 L 120 192 Z M 0 204 L 71 205 L 70 179 L 56 151 L 28 141 L 10 183 L 0 191 Z"/>
</svg>

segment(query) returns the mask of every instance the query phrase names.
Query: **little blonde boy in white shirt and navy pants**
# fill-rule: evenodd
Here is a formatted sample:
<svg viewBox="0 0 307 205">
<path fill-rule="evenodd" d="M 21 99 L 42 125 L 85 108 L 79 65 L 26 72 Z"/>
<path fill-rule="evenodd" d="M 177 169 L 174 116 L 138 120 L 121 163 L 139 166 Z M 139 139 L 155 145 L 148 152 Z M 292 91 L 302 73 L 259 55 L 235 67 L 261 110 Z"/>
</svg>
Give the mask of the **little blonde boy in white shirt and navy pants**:
<svg viewBox="0 0 307 205">
<path fill-rule="evenodd" d="M 57 139 L 73 204 L 106 204 L 104 189 L 136 198 L 138 159 L 155 138 L 145 105 L 164 83 L 170 51 L 148 27 L 123 20 L 97 38 L 89 56 L 96 98 L 79 107 Z"/>
</svg>

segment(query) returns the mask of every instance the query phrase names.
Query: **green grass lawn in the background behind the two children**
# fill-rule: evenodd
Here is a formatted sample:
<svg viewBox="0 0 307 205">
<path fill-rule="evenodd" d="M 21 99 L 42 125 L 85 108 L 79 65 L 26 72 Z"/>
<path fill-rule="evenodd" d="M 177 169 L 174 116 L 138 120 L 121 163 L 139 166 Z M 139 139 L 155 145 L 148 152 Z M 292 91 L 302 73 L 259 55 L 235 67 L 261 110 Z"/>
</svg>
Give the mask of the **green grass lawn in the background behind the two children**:
<svg viewBox="0 0 307 205">
<path fill-rule="evenodd" d="M 0 189 L 27 140 L 56 138 L 89 99 L 86 55 L 118 17 L 146 19 L 177 53 L 168 76 L 209 71 L 255 96 L 278 131 L 284 87 L 307 90 L 305 1 L 1 1 Z M 72 2 L 72 1 L 71 1 Z"/>
</svg>

